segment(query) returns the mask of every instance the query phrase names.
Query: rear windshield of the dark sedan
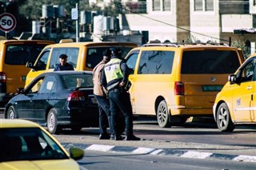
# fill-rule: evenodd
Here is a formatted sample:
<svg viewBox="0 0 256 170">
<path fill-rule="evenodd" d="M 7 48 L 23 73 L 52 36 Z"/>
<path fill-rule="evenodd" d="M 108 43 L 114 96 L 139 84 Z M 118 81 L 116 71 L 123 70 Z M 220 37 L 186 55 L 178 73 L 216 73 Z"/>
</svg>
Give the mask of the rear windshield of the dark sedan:
<svg viewBox="0 0 256 170">
<path fill-rule="evenodd" d="M 66 89 L 77 87 L 92 88 L 94 85 L 92 74 L 69 74 L 62 77 L 66 84 Z"/>
</svg>

